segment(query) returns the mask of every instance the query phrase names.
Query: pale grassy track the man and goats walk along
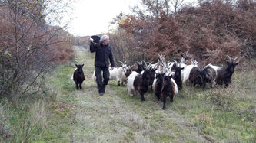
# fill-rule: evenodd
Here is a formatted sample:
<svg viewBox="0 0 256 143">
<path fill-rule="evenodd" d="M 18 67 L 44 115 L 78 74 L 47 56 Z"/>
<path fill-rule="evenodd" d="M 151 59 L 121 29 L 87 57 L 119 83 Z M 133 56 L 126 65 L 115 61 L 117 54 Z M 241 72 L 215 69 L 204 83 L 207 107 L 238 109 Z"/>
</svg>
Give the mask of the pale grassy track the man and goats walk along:
<svg viewBox="0 0 256 143">
<path fill-rule="evenodd" d="M 161 109 L 153 93 L 145 95 L 145 102 L 139 96 L 130 97 L 126 86 L 117 86 L 111 81 L 104 96 L 98 95 L 95 81 L 91 80 L 95 54 L 87 49 L 75 47 L 76 59 L 85 60 L 86 80 L 81 90 L 75 89 L 71 80 L 72 109 L 71 142 L 212 142 L 198 128 L 175 112 L 175 104 L 168 100 L 167 109 Z M 67 74 L 70 77 L 71 74 Z M 70 78 L 69 78 L 70 79 Z M 65 98 L 63 96 L 63 98 Z M 178 95 L 177 95 L 178 96 Z M 175 99 L 174 99 L 175 102 Z"/>
</svg>

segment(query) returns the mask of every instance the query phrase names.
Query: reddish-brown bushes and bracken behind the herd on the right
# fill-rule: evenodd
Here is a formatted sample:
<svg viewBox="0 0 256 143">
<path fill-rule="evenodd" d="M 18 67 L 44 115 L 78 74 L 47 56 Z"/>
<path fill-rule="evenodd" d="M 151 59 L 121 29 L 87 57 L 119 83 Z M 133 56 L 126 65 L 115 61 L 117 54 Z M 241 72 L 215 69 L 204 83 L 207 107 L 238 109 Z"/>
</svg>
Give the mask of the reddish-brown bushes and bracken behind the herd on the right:
<svg viewBox="0 0 256 143">
<path fill-rule="evenodd" d="M 119 15 L 115 22 L 119 31 L 125 30 L 123 36 L 132 39 L 124 46 L 129 53 L 124 55 L 133 55 L 122 57 L 126 60 L 157 60 L 156 53 L 165 54 L 166 60 L 180 59 L 180 51 L 188 51 L 200 65 L 220 63 L 226 54 L 256 57 L 256 3 L 248 0 L 204 1 L 175 15 L 161 11 L 153 18 Z"/>
</svg>

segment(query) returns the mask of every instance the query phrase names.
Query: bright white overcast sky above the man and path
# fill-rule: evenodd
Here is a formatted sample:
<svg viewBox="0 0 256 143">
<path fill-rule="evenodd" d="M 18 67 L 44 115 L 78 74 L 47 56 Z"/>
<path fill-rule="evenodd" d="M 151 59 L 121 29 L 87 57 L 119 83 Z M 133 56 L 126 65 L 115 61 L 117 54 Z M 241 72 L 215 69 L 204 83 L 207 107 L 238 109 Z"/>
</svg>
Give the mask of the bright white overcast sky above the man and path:
<svg viewBox="0 0 256 143">
<path fill-rule="evenodd" d="M 129 6 L 138 0 L 78 0 L 74 4 L 74 20 L 68 32 L 74 36 L 91 36 L 108 31 L 113 18 L 124 12 L 131 13 Z"/>
</svg>

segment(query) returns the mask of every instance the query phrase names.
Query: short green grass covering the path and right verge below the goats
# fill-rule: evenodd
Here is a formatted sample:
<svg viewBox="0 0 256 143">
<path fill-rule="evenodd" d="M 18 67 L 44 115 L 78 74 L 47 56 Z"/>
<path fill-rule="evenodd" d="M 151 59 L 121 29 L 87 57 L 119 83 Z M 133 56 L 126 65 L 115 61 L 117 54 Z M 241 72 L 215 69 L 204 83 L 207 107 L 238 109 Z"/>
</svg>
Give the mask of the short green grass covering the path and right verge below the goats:
<svg viewBox="0 0 256 143">
<path fill-rule="evenodd" d="M 75 54 L 79 62 L 85 60 L 83 89 L 76 90 L 70 80 L 74 67 L 69 63 L 56 67 L 46 84 L 54 101 L 45 107 L 47 119 L 29 141 L 256 141 L 256 73 L 250 70 L 236 70 L 227 89 L 184 86 L 162 110 L 153 93 L 146 93 L 141 102 L 140 96 L 128 96 L 126 87 L 115 81 L 110 81 L 104 96 L 98 96 L 91 80 L 94 54 L 80 47 L 75 47 Z"/>
</svg>

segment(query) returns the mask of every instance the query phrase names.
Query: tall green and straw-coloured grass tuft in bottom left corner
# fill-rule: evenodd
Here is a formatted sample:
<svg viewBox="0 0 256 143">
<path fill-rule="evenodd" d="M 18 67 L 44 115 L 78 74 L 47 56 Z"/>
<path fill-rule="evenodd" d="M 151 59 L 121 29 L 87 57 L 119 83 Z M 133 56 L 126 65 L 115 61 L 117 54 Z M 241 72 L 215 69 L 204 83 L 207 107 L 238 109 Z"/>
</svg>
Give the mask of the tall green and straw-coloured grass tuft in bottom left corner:
<svg viewBox="0 0 256 143">
<path fill-rule="evenodd" d="M 5 126 L 9 134 L 2 134 L 1 142 L 35 141 L 46 127 L 47 114 L 43 100 L 26 102 L 15 108 L 11 102 L 5 101 L 5 104 L 0 106 L 0 113 L 0 124 Z"/>
</svg>

